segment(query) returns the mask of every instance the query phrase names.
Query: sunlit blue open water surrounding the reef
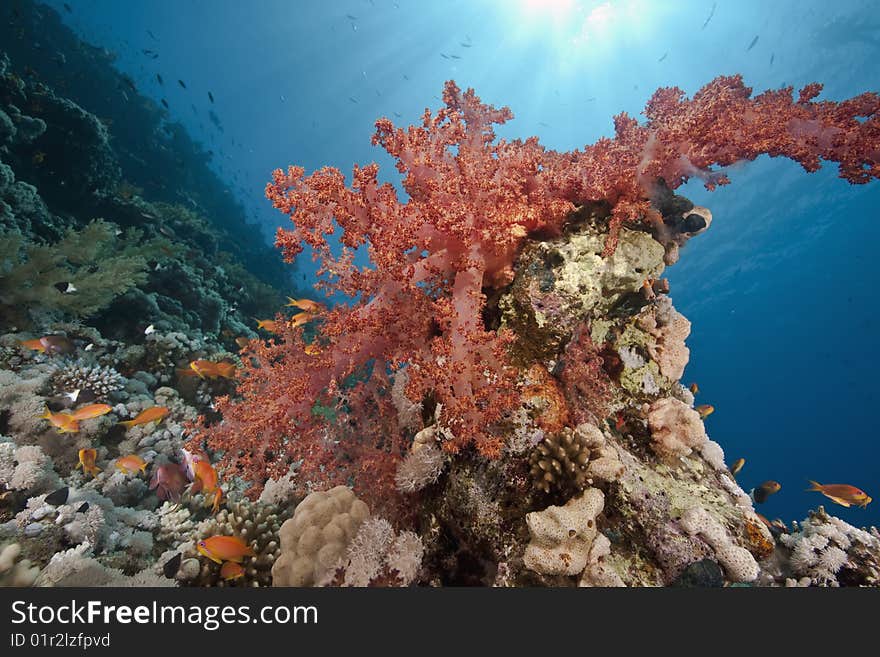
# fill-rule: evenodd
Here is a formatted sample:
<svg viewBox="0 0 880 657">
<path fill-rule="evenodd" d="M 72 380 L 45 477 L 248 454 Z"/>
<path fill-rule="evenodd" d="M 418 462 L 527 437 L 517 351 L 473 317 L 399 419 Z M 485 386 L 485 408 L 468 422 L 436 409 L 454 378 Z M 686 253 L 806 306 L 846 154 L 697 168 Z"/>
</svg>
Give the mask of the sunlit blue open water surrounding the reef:
<svg viewBox="0 0 880 657">
<path fill-rule="evenodd" d="M 373 121 L 417 121 L 450 78 L 513 109 L 503 136 L 538 135 L 562 150 L 610 135 L 611 117 L 637 115 L 657 87 L 692 94 L 722 74 L 741 73 L 756 92 L 818 81 L 832 100 L 880 87 L 870 1 L 48 4 L 216 151 L 218 172 L 267 239 L 286 221 L 263 198 L 272 169 L 350 172 L 376 160 L 394 180 L 370 146 Z M 782 484 L 764 515 L 800 519 L 827 502 L 857 526 L 880 524 L 880 501 L 844 509 L 805 492 L 815 479 L 880 494 L 880 185 L 767 157 L 730 178 L 713 193 L 698 182 L 679 190 L 715 217 L 667 272 L 693 323 L 685 381 L 715 406 L 707 427 L 728 461 L 746 458 L 744 488 Z"/>
</svg>

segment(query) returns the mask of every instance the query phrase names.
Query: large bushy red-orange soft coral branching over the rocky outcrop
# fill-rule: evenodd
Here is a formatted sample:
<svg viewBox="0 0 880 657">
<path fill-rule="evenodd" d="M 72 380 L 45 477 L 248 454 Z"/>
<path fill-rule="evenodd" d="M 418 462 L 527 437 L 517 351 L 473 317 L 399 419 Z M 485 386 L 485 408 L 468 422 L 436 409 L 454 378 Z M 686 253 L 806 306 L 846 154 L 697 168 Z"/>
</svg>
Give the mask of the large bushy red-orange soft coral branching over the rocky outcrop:
<svg viewBox="0 0 880 657">
<path fill-rule="evenodd" d="M 269 345 L 250 347 L 242 399 L 218 402 L 224 422 L 204 432 L 208 446 L 223 450 L 226 464 L 257 490 L 297 461 L 311 474 L 302 480 L 323 487 L 352 477 L 362 490 L 362 479 L 372 476 L 376 486 L 393 489 L 392 466 L 405 448 L 395 442 L 403 431 L 386 398 L 390 377 L 405 371 L 405 397 L 442 409 L 446 451 L 474 445 L 484 456 L 499 455 L 497 427 L 520 396 L 508 353 L 515 338 L 494 328 L 487 299 L 513 280 L 525 241 L 562 234 L 572 211 L 591 202 L 611 208 L 603 219 L 603 257 L 615 251 L 624 223 L 687 237 L 709 219 L 659 230 L 667 217 L 650 199 L 694 176 L 709 189 L 725 184 L 713 167 L 761 154 L 789 157 L 808 171 L 820 159 L 837 161 L 853 183 L 880 177 L 880 96 L 814 102 L 820 89 L 810 85 L 797 100 L 791 88 L 752 98 L 739 76 L 719 77 L 691 100 L 677 88 L 661 89 L 648 102 L 645 125 L 621 114 L 613 139 L 557 153 L 536 138 L 496 139 L 492 125 L 511 112 L 447 82 L 445 107 L 436 115 L 426 110 L 420 126 L 376 122 L 373 143 L 396 160 L 406 202 L 392 185 L 379 184 L 375 164 L 355 167 L 350 187 L 329 167 L 309 176 L 300 167 L 277 170 L 266 195 L 294 228 L 279 229 L 276 245 L 287 260 L 310 246 L 321 261 L 323 288 L 353 301 L 322 314 L 314 346 L 302 328 L 287 327 Z M 670 240 L 677 246 L 683 238 Z M 361 247 L 368 266 L 355 264 Z M 679 323 L 671 342 L 687 333 Z M 579 347 L 590 351 L 582 336 Z M 660 356 L 670 375 L 686 357 Z M 599 359 L 593 362 L 585 374 L 598 382 Z M 583 387 L 584 377 L 574 378 L 575 389 Z M 590 415 L 603 407 L 577 409 L 574 419 L 597 419 Z M 340 429 L 348 413 L 366 435 Z"/>
</svg>

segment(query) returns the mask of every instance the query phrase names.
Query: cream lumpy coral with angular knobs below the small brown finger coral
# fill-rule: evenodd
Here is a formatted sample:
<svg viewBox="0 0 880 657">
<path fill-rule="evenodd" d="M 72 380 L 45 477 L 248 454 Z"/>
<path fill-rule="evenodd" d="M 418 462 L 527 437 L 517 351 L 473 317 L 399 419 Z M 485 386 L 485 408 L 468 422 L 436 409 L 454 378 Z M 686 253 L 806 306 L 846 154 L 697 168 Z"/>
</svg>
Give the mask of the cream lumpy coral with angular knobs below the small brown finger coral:
<svg viewBox="0 0 880 657">
<path fill-rule="evenodd" d="M 598 488 L 588 488 L 565 506 L 548 506 L 526 515 L 531 541 L 523 563 L 542 575 L 577 575 L 589 562 L 596 516 L 605 506 Z"/>
</svg>

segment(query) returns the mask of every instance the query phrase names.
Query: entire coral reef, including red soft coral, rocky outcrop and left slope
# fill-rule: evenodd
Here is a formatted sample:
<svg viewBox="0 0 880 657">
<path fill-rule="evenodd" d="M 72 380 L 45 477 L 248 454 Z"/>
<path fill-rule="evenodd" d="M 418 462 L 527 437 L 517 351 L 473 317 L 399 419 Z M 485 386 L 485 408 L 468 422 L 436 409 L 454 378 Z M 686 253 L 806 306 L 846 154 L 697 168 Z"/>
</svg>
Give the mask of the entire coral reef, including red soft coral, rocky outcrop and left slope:
<svg viewBox="0 0 880 657">
<path fill-rule="evenodd" d="M 126 84 L 89 52 L 71 66 Z M 273 174 L 284 258 L 311 247 L 319 288 L 350 299 L 291 299 L 289 318 L 267 285 L 287 281 L 180 126 L 139 98 L 125 112 L 154 129 L 141 144 L 14 55 L 0 583 L 880 584 L 876 529 L 820 508 L 771 530 L 755 513 L 680 383 L 691 327 L 662 278 L 712 225 L 675 193 L 689 178 L 712 189 L 717 167 L 765 153 L 880 177 L 875 94 L 752 97 L 722 77 L 692 99 L 661 89 L 645 124 L 622 114 L 613 138 L 557 153 L 496 138 L 510 110 L 448 82 L 420 125 L 376 123 L 406 198 L 377 165 L 351 185 L 329 167 Z M 95 401 L 106 412 L 59 439 Z M 244 555 L 234 578 L 206 558 L 218 539 Z"/>
</svg>

